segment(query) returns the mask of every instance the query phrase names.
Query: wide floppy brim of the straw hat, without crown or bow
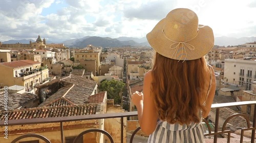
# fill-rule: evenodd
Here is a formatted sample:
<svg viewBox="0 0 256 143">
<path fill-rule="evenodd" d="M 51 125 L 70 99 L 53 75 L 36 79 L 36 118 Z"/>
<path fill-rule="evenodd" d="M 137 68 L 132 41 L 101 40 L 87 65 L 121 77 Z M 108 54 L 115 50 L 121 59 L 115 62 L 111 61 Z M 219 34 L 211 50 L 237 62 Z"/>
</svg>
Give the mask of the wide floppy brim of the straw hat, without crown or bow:
<svg viewBox="0 0 256 143">
<path fill-rule="evenodd" d="M 146 35 L 148 43 L 158 52 L 159 54 L 174 60 L 188 61 L 202 58 L 214 47 L 214 33 L 209 26 L 199 25 L 198 34 L 195 38 L 187 41 L 187 44 L 193 45 L 194 50 L 186 48 L 186 56 L 184 53 L 180 56 L 174 56 L 176 49 L 170 48 L 170 45 L 175 42 L 168 40 L 162 30 L 164 27 L 164 19 L 160 20 L 153 30 Z"/>
</svg>

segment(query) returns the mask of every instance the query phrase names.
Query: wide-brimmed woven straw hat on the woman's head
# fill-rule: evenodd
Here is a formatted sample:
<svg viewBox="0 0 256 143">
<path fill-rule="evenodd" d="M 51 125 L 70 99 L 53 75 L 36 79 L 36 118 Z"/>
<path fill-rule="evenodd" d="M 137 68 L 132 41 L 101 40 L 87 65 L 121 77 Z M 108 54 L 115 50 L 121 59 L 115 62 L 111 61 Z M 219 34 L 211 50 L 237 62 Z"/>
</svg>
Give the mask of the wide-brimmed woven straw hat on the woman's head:
<svg viewBox="0 0 256 143">
<path fill-rule="evenodd" d="M 170 11 L 146 38 L 159 54 L 183 62 L 199 59 L 214 47 L 211 28 L 198 25 L 197 14 L 184 8 Z"/>
</svg>

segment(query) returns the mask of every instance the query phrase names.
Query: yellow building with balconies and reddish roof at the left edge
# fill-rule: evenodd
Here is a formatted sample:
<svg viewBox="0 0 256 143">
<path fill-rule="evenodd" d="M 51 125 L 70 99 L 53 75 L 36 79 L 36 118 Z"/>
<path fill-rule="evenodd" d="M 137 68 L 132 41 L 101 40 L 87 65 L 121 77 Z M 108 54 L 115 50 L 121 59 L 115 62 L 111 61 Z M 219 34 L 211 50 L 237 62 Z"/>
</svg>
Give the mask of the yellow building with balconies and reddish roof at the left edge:
<svg viewBox="0 0 256 143">
<path fill-rule="evenodd" d="M 26 91 L 33 90 L 35 85 L 49 77 L 48 68 L 41 67 L 41 63 L 31 60 L 1 63 L 0 70 L 2 85 L 21 85 L 26 87 Z"/>
</svg>

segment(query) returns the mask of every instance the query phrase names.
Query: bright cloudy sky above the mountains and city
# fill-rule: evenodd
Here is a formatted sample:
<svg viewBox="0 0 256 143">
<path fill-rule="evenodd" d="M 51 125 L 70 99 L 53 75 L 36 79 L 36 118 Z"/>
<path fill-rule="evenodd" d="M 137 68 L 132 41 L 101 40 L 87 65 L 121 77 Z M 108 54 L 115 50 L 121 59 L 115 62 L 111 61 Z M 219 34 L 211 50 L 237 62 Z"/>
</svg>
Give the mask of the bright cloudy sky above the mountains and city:
<svg viewBox="0 0 256 143">
<path fill-rule="evenodd" d="M 175 8 L 196 12 L 215 37 L 256 36 L 255 0 L 1 0 L 0 41 L 142 38 Z"/>
</svg>

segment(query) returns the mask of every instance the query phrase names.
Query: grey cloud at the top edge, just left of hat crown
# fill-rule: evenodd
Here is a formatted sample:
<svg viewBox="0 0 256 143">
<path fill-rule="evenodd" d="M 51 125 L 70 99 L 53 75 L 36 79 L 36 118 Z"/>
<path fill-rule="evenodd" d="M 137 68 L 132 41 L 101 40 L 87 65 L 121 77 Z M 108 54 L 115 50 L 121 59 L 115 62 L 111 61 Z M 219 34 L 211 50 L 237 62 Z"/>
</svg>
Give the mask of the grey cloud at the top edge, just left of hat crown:
<svg viewBox="0 0 256 143">
<path fill-rule="evenodd" d="M 174 8 L 174 1 L 157 1 L 142 4 L 140 7 L 125 7 L 124 16 L 127 18 L 160 20 Z"/>
</svg>

